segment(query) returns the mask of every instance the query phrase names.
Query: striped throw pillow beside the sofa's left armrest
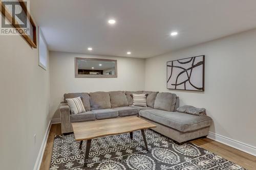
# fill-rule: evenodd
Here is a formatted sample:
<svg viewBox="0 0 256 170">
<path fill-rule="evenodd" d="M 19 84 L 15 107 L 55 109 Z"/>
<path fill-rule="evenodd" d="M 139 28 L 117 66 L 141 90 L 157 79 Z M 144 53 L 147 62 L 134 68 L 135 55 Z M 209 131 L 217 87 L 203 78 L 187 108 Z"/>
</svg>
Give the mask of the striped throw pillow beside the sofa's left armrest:
<svg viewBox="0 0 256 170">
<path fill-rule="evenodd" d="M 66 99 L 66 101 L 68 102 L 68 105 L 70 107 L 71 114 L 86 112 L 86 109 L 84 109 L 84 106 L 80 97 Z"/>
</svg>

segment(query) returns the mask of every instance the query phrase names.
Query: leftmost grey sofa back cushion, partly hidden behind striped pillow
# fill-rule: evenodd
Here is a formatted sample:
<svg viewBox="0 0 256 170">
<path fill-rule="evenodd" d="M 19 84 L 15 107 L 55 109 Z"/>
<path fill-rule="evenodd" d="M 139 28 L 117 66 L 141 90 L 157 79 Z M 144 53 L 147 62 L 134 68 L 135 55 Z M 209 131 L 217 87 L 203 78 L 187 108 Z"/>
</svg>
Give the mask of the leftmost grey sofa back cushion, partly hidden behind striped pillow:
<svg viewBox="0 0 256 170">
<path fill-rule="evenodd" d="M 89 93 L 66 93 L 64 94 L 64 102 L 67 103 L 66 99 L 81 97 L 82 103 L 86 111 L 91 110 L 90 95 Z"/>
</svg>

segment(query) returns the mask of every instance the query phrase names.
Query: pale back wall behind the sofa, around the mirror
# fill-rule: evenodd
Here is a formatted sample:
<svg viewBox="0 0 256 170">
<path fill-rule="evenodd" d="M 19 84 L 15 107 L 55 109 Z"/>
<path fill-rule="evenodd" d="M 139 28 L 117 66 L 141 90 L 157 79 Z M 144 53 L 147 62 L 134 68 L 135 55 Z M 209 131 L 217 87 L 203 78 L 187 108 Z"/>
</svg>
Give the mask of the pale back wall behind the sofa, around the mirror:
<svg viewBox="0 0 256 170">
<path fill-rule="evenodd" d="M 75 57 L 117 60 L 117 78 L 75 78 Z M 59 118 L 64 93 L 144 89 L 144 59 L 50 52 L 50 63 L 50 113 L 54 118 Z"/>
</svg>

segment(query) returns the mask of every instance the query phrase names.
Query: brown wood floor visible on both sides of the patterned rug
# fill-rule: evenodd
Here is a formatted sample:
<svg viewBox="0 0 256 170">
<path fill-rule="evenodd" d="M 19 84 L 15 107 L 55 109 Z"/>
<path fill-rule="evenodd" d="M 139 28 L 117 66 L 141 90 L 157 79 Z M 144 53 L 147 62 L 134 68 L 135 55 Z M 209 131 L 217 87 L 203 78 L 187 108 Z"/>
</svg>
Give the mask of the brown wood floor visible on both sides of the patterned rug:
<svg viewBox="0 0 256 170">
<path fill-rule="evenodd" d="M 52 156 L 52 148 L 53 148 L 53 140 L 55 135 L 60 135 L 60 124 L 54 124 L 51 126 L 49 137 L 46 144 L 46 149 L 44 152 L 44 156 L 42 158 L 40 170 L 49 170 L 51 156 Z M 237 149 L 228 147 L 225 144 L 220 142 L 204 138 L 204 139 L 196 139 L 191 141 L 192 143 L 197 144 L 199 147 L 202 147 L 208 151 L 211 151 L 215 154 L 222 156 L 223 158 L 232 161 L 236 164 L 239 164 L 247 169 L 256 169 L 256 157 L 245 152 L 239 151 Z"/>
</svg>

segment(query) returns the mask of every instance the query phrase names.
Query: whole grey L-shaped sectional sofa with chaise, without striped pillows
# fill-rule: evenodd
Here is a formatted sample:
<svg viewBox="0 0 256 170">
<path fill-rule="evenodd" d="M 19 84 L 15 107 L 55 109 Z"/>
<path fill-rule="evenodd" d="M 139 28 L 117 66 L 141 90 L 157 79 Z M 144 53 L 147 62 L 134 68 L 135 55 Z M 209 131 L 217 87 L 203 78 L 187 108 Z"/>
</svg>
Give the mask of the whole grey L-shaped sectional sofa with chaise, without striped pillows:
<svg viewBox="0 0 256 170">
<path fill-rule="evenodd" d="M 132 106 L 131 94 L 147 93 L 147 107 Z M 60 104 L 61 132 L 73 132 L 72 122 L 122 116 L 140 116 L 157 125 L 153 130 L 181 143 L 207 136 L 212 119 L 207 115 L 177 112 L 179 97 L 174 93 L 155 91 L 110 91 L 64 94 L 64 101 L 80 96 L 86 109 L 72 114 L 66 102 Z"/>
</svg>

